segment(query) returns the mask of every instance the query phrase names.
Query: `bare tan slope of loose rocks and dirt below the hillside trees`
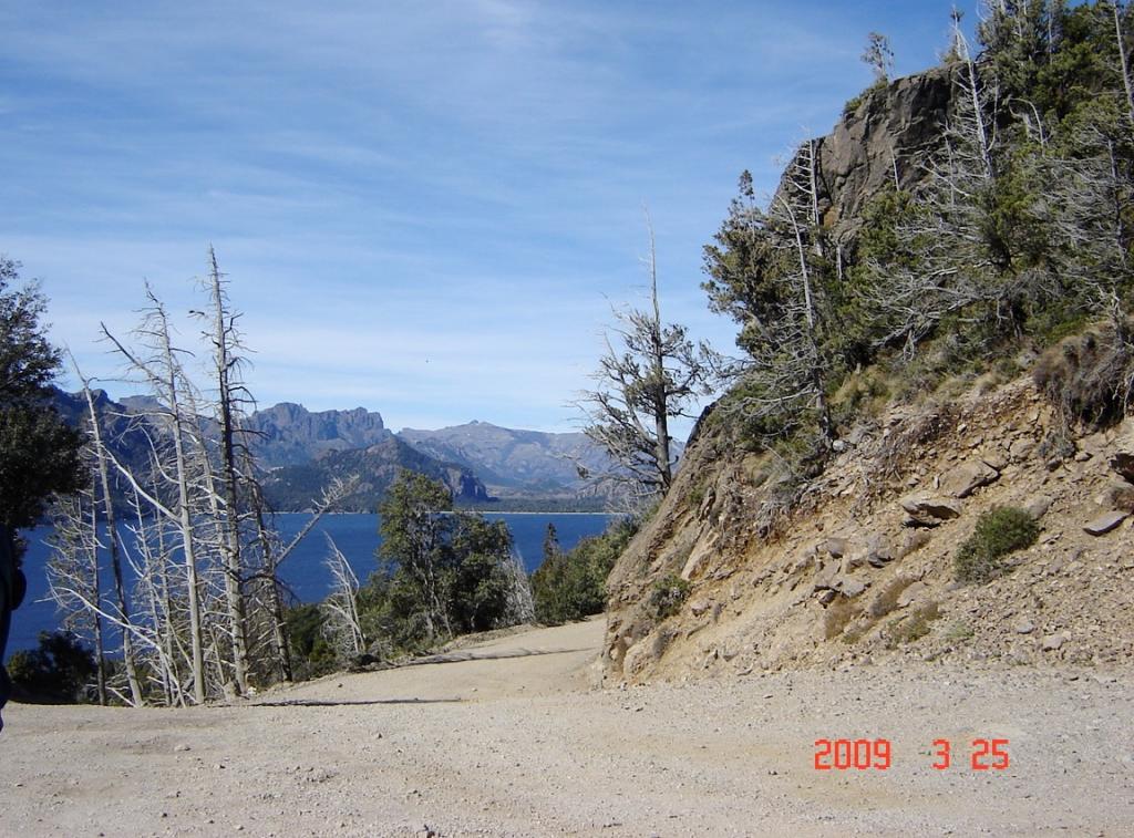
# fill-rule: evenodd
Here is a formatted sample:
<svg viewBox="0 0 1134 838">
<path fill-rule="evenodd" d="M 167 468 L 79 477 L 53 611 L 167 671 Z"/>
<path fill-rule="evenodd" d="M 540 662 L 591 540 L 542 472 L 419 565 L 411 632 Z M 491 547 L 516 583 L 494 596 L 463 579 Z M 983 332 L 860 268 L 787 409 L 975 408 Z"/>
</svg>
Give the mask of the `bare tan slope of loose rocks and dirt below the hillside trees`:
<svg viewBox="0 0 1134 838">
<path fill-rule="evenodd" d="M 643 680 L 861 663 L 1134 658 L 1134 420 L 1067 435 L 1030 378 L 855 428 L 768 527 L 767 455 L 708 428 L 610 579 L 603 660 Z M 988 584 L 956 578 L 981 513 L 1026 510 L 1039 541 Z M 665 617 L 659 590 L 687 595 Z M 678 595 L 676 599 L 680 599 Z"/>
</svg>

